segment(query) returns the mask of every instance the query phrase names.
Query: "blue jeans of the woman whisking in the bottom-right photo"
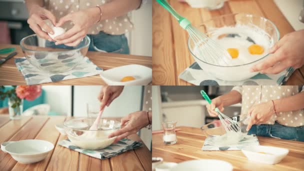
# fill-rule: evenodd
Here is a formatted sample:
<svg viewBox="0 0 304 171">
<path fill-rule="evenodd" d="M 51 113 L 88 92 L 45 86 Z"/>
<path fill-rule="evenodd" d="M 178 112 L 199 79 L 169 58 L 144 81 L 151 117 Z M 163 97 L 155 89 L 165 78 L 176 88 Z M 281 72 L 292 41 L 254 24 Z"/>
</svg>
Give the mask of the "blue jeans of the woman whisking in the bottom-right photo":
<svg viewBox="0 0 304 171">
<path fill-rule="evenodd" d="M 248 134 L 304 141 L 304 126 L 289 127 L 281 125 L 277 122 L 274 124 L 253 125 L 248 131 Z"/>
</svg>

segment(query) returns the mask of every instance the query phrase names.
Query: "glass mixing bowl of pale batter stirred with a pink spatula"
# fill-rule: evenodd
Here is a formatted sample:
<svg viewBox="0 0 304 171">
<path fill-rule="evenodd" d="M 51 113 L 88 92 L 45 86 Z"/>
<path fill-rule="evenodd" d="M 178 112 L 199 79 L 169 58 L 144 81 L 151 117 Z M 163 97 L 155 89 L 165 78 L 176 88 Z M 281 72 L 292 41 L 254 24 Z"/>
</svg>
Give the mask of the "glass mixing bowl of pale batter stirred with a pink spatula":
<svg viewBox="0 0 304 171">
<path fill-rule="evenodd" d="M 116 120 L 100 119 L 97 130 L 89 130 L 96 118 L 73 118 L 64 121 L 64 131 L 68 139 L 82 149 L 102 149 L 113 143 L 115 136 L 107 136 L 120 128 Z"/>
</svg>

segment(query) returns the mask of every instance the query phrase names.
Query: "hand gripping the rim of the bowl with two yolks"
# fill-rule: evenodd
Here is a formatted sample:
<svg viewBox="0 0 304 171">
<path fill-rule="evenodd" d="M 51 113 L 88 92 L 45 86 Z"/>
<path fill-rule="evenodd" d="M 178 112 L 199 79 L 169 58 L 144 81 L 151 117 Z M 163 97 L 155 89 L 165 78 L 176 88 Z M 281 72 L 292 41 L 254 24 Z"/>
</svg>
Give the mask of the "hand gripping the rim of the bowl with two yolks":
<svg viewBox="0 0 304 171">
<path fill-rule="evenodd" d="M 267 59 L 254 65 L 252 72 L 276 74 L 292 66 L 294 69 L 304 65 L 304 29 L 286 34 L 269 51 Z"/>
</svg>

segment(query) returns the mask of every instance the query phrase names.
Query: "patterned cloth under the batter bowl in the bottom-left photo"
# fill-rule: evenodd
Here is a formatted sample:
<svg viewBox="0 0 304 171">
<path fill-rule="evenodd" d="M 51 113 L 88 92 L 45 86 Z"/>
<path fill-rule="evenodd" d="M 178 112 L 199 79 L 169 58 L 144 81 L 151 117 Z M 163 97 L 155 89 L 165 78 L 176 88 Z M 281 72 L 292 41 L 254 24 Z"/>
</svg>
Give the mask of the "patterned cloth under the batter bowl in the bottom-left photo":
<svg viewBox="0 0 304 171">
<path fill-rule="evenodd" d="M 81 152 L 85 155 L 89 155 L 99 159 L 106 159 L 116 155 L 119 155 L 125 151 L 136 149 L 142 146 L 142 143 L 139 141 L 133 141 L 130 139 L 123 138 L 119 142 L 115 144 L 111 144 L 110 146 L 99 149 L 99 150 L 87 150 L 81 149 L 78 146 L 73 145 L 69 139 L 63 139 L 58 142 L 59 145 L 67 147 L 69 149 Z"/>
</svg>

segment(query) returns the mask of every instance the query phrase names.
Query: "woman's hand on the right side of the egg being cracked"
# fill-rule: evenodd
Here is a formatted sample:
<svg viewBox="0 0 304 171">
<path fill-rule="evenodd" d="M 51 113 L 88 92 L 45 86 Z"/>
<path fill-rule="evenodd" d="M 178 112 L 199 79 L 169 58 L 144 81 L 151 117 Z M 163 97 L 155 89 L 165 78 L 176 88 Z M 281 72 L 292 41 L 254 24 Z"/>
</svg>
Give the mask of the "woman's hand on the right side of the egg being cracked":
<svg viewBox="0 0 304 171">
<path fill-rule="evenodd" d="M 54 37 L 55 44 L 76 46 L 87 34 L 88 28 L 100 18 L 98 7 L 87 8 L 77 12 L 69 13 L 58 21 L 56 26 L 61 26 L 66 21 L 73 22 L 74 26 L 65 33 Z"/>
</svg>

